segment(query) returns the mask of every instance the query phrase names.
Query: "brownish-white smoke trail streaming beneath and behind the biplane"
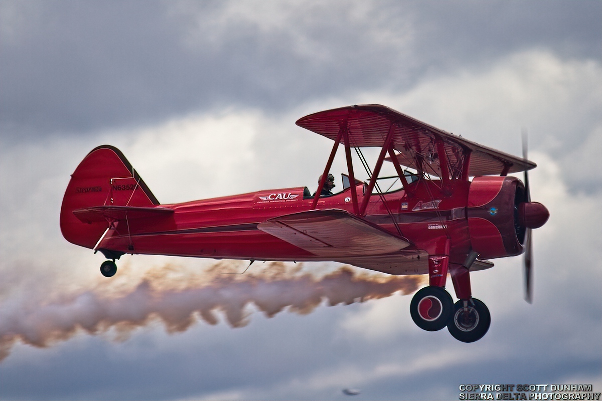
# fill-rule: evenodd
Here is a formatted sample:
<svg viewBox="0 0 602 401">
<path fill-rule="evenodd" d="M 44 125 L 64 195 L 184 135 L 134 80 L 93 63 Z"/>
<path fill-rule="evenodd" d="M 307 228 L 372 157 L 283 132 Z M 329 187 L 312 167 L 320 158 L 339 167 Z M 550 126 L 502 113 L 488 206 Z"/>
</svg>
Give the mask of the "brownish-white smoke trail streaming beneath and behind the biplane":
<svg viewBox="0 0 602 401">
<path fill-rule="evenodd" d="M 315 277 L 303 273 L 300 265 L 279 262 L 244 275 L 220 274 L 232 270 L 232 263 L 217 263 L 201 273 L 184 276 L 176 266 L 167 265 L 134 280 L 133 285 L 128 283 L 126 272 L 120 272 L 121 282 L 101 281 L 95 289 L 52 301 L 4 302 L 0 308 L 0 361 L 17 341 L 46 347 L 81 331 L 99 334 L 117 328 L 127 333 L 155 320 L 163 322 L 168 332 L 179 332 L 199 318 L 217 324 L 216 312 L 222 312 L 232 327 L 241 327 L 248 323 L 250 304 L 268 317 L 285 308 L 306 314 L 323 301 L 328 305 L 352 304 L 396 292 L 407 294 L 422 282 L 417 276 L 358 274 L 346 266 Z"/>
</svg>

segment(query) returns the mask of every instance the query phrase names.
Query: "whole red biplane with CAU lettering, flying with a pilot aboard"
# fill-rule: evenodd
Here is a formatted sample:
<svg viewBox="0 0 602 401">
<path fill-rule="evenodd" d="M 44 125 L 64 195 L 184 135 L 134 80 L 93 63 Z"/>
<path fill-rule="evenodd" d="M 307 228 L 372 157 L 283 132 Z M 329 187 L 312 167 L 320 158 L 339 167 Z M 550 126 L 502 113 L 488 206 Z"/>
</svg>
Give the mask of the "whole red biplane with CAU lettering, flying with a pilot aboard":
<svg viewBox="0 0 602 401">
<path fill-rule="evenodd" d="M 412 319 L 427 331 L 447 326 L 464 342 L 479 340 L 491 322 L 488 308 L 472 296 L 470 272 L 491 268 L 487 259 L 526 251 L 530 302 L 531 230 L 549 213 L 530 200 L 527 170 L 536 165 L 526 155 L 507 155 L 380 105 L 321 111 L 297 125 L 334 141 L 314 195 L 299 187 L 160 204 L 123 154 L 103 145 L 72 174 L 61 208 L 63 236 L 101 251 L 109 259 L 101 265 L 107 277 L 123 254 L 334 261 L 428 274 L 430 285 L 412 298 Z M 324 196 L 341 144 L 343 191 Z M 372 169 L 365 147 L 380 148 Z M 355 178 L 352 148 L 367 182 Z M 380 190 L 385 161 L 396 171 L 401 187 L 395 191 Z M 507 176 L 520 171 L 524 183 Z M 455 304 L 445 290 L 448 274 Z"/>
</svg>

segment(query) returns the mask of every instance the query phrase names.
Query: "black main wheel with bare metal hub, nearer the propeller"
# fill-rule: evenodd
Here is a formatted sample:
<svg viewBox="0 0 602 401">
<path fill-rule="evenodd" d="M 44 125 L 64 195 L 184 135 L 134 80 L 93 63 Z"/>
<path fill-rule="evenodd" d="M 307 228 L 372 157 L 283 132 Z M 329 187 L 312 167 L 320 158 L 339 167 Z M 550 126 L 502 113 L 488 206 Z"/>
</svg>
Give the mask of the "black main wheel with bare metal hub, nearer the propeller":
<svg viewBox="0 0 602 401">
<path fill-rule="evenodd" d="M 468 300 L 467 307 L 464 308 L 464 301 L 461 299 L 454 304 L 454 313 L 447 329 L 456 340 L 473 343 L 485 335 L 490 324 L 491 315 L 483 302 L 471 298 Z"/>
</svg>

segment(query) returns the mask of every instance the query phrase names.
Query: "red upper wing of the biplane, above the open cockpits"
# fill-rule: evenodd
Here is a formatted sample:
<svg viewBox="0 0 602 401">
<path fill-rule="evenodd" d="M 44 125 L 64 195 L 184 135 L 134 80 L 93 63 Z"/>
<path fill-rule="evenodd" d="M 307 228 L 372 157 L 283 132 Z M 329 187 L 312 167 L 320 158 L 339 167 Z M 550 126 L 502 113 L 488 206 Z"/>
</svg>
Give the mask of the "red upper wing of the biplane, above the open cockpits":
<svg viewBox="0 0 602 401">
<path fill-rule="evenodd" d="M 381 105 L 347 106 L 320 111 L 297 120 L 298 126 L 330 139 L 337 138 L 345 123 L 353 147 L 382 147 L 393 124 L 393 144 L 399 152 L 400 164 L 417 168 L 418 156 L 424 161 L 424 171 L 438 176 L 441 176 L 441 168 L 436 139 L 441 139 L 450 166 L 458 171 L 462 168 L 464 155 L 471 154 L 470 176 L 500 175 L 504 169 L 506 173 L 517 173 L 536 167 L 533 162 L 468 141 Z"/>
</svg>

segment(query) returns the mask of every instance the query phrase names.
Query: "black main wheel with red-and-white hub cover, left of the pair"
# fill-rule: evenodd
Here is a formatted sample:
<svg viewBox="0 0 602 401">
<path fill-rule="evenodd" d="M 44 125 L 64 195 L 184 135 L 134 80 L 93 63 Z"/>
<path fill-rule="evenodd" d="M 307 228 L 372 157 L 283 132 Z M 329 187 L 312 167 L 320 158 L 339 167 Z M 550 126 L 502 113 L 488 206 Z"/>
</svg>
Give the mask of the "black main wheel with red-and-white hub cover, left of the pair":
<svg viewBox="0 0 602 401">
<path fill-rule="evenodd" d="M 442 287 L 424 287 L 410 303 L 410 315 L 418 327 L 426 331 L 441 330 L 453 311 L 452 296 Z"/>
</svg>

